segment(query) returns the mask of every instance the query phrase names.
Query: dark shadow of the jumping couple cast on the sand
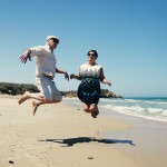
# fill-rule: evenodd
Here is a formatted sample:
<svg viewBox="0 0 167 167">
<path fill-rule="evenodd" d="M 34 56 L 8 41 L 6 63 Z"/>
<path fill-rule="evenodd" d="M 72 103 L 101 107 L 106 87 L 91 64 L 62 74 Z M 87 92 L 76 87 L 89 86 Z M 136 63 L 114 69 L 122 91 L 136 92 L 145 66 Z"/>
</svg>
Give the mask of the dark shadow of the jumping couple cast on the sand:
<svg viewBox="0 0 167 167">
<path fill-rule="evenodd" d="M 132 140 L 96 139 L 96 138 L 90 138 L 90 137 L 77 137 L 77 138 L 67 138 L 67 139 L 45 139 L 45 140 L 38 140 L 38 141 L 58 143 L 58 144 L 66 145 L 66 146 L 61 146 L 61 147 L 71 147 L 76 144 L 91 143 L 91 141 L 102 143 L 102 144 L 128 144 L 128 145 L 135 146 Z"/>
</svg>

